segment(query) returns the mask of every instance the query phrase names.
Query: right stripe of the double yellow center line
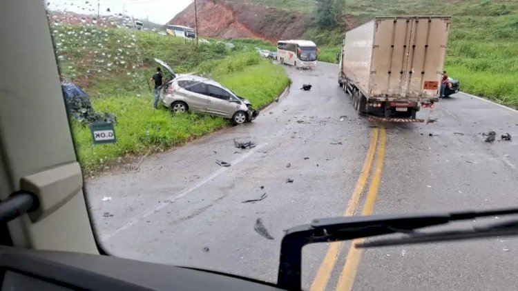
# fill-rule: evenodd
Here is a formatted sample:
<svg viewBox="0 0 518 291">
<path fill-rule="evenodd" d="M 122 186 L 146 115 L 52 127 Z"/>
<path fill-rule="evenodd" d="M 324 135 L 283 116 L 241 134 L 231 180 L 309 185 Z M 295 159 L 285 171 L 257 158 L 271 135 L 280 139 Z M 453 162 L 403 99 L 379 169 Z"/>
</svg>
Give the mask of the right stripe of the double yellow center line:
<svg viewBox="0 0 518 291">
<path fill-rule="evenodd" d="M 385 143 L 386 143 L 386 130 L 381 128 L 380 130 L 380 145 L 378 147 L 378 156 L 376 157 L 376 165 L 374 165 L 374 177 L 370 183 L 369 194 L 367 194 L 367 201 L 363 207 L 362 215 L 370 215 L 374 210 L 374 203 L 376 203 L 376 197 L 378 196 L 378 188 L 381 181 L 381 172 L 383 172 L 383 160 L 385 159 Z M 358 266 L 361 261 L 362 250 L 354 248 L 355 243 L 361 243 L 364 239 L 355 239 L 351 242 L 351 247 L 347 253 L 347 261 L 343 267 L 342 274 L 336 285 L 336 290 L 347 291 L 352 290 L 354 285 L 354 278 L 358 271 Z"/>
</svg>

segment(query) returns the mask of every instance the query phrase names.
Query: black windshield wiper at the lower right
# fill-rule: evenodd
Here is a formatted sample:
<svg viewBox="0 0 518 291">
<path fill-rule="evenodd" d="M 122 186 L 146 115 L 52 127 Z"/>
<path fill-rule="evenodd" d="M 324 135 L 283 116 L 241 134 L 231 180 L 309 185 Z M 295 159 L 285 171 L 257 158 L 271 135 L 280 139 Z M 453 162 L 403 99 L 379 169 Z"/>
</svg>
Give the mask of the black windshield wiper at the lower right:
<svg viewBox="0 0 518 291">
<path fill-rule="evenodd" d="M 316 219 L 310 224 L 299 225 L 286 231 L 280 245 L 280 262 L 277 284 L 280 288 L 300 290 L 302 248 L 310 243 L 346 241 L 362 237 L 375 237 L 382 234 L 404 233 L 410 236 L 400 239 L 385 239 L 358 243 L 358 247 L 367 248 L 381 245 L 405 243 L 426 243 L 430 241 L 449 241 L 474 239 L 518 234 L 518 221 L 500 223 L 486 228 L 434 232 L 421 234 L 414 232 L 418 228 L 441 225 L 452 221 L 475 219 L 477 217 L 496 217 L 506 214 L 518 214 L 518 208 L 490 210 L 483 212 L 451 212 L 416 215 L 372 215 L 367 217 L 337 217 Z"/>
</svg>

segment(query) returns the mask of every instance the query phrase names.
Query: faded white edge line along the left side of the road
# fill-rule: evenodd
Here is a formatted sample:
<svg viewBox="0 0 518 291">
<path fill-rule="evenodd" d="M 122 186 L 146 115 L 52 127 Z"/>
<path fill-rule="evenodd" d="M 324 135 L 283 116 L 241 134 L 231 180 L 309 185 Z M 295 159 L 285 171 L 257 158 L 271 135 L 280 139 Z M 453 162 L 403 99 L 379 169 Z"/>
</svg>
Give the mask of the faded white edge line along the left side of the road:
<svg viewBox="0 0 518 291">
<path fill-rule="evenodd" d="M 253 153 L 257 152 L 260 148 L 264 148 L 266 145 L 268 145 L 268 143 L 262 143 L 260 145 L 257 145 L 252 150 L 249 150 L 249 152 L 247 152 L 246 154 L 242 154 L 240 157 L 238 157 L 238 159 L 235 159 L 235 160 L 231 161 L 231 165 L 236 165 L 236 164 L 242 162 L 244 159 L 247 159 L 247 157 L 250 157 Z M 191 187 L 182 190 L 178 194 L 171 195 L 171 196 L 167 197 L 165 200 L 169 200 L 169 203 L 161 203 L 160 205 L 157 205 L 155 208 L 152 208 L 152 209 L 144 212 L 143 214 L 139 214 L 136 217 L 133 217 L 133 219 L 131 219 L 130 221 L 128 221 L 124 225 L 119 226 L 115 230 L 113 230 L 113 231 L 111 231 L 109 233 L 99 234 L 99 239 L 101 241 L 104 241 L 104 242 L 108 241 L 108 239 L 110 239 L 111 237 L 115 236 L 116 234 L 119 234 L 119 232 L 122 232 L 123 230 L 126 230 L 127 228 L 131 227 L 131 225 L 134 225 L 135 223 L 139 222 L 140 220 L 145 219 L 146 217 L 150 216 L 151 214 L 153 214 L 153 213 L 157 212 L 158 210 L 161 210 L 162 208 L 166 207 L 171 202 L 177 201 L 178 199 L 180 199 L 180 198 L 186 196 L 187 194 L 193 192 L 194 190 L 200 188 L 202 185 L 204 185 L 205 183 L 211 181 L 215 177 L 218 177 L 220 174 L 222 174 L 223 172 L 227 171 L 228 169 L 229 168 L 227 168 L 227 167 L 220 168 L 219 170 L 213 172 L 212 174 L 210 174 L 209 176 L 205 177 L 204 179 L 202 179 L 198 183 L 195 183 Z"/>
</svg>

